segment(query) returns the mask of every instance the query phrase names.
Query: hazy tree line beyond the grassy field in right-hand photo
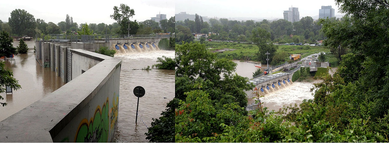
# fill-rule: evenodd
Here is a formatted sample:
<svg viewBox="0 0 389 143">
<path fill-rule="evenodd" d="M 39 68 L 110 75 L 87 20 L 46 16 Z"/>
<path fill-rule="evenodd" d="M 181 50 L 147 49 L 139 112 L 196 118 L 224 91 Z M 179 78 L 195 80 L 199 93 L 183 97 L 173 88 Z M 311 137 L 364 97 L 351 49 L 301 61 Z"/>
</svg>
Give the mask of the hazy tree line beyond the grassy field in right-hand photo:
<svg viewBox="0 0 389 143">
<path fill-rule="evenodd" d="M 322 25 L 309 16 L 293 23 L 284 19 L 277 21 L 264 19 L 261 22 L 254 22 L 254 20 L 236 21 L 226 18 L 212 18 L 207 22 L 202 21 L 202 17 L 196 14 L 195 21 L 189 19 L 177 21 L 176 26 L 189 28 L 189 33 L 210 33 L 208 38 L 212 40 L 251 41 L 252 38 L 255 38 L 251 31 L 257 28 L 270 33 L 270 41 L 274 43 L 316 43 L 316 41 L 324 39 L 324 34 L 320 31 Z M 178 29 L 176 33 L 179 31 Z M 177 42 L 180 41 L 177 40 Z M 182 41 L 186 41 L 186 39 Z"/>
</svg>

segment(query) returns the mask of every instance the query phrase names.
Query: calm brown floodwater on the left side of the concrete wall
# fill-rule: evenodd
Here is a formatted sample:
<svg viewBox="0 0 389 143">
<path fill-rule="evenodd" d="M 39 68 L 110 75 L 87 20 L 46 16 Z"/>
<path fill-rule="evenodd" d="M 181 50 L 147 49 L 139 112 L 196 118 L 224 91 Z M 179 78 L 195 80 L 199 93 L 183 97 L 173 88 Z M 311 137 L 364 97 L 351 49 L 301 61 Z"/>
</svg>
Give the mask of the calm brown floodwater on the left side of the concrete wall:
<svg viewBox="0 0 389 143">
<path fill-rule="evenodd" d="M 14 59 L 5 60 L 5 66 L 14 73 L 14 78 L 18 80 L 21 89 L 11 93 L 2 93 L 8 105 L 0 107 L 0 121 L 15 114 L 19 110 L 40 100 L 48 93 L 51 93 L 61 86 L 63 82 L 60 77 L 50 68 L 42 67 L 35 60 L 35 41 L 25 41 L 28 46 L 28 53 L 15 55 Z M 19 41 L 12 43 L 14 47 L 19 46 Z"/>
</svg>

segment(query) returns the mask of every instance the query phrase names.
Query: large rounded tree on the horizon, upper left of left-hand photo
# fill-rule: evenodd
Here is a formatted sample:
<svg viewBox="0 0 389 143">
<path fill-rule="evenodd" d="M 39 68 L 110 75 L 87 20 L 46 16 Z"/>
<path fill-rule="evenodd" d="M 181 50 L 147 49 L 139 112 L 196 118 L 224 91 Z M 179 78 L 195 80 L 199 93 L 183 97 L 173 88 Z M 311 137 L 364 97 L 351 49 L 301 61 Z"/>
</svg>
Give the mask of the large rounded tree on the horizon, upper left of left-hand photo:
<svg viewBox="0 0 389 143">
<path fill-rule="evenodd" d="M 35 18 L 26 10 L 15 9 L 11 12 L 11 17 L 8 18 L 9 26 L 12 28 L 12 33 L 19 36 L 35 35 Z"/>
</svg>

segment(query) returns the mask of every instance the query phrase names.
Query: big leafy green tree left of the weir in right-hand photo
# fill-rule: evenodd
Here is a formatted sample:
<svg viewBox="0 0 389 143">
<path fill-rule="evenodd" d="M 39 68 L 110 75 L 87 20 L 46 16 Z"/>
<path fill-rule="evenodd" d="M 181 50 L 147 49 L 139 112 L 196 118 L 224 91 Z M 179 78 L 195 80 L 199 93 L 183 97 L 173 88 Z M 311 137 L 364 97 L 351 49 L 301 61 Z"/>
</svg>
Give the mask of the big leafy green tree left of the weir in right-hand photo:
<svg viewBox="0 0 389 143">
<path fill-rule="evenodd" d="M 218 59 L 198 42 L 177 45 L 175 60 L 175 98 L 182 101 L 176 110 L 176 141 L 214 136 L 223 132 L 220 124 L 235 125 L 245 118 L 244 90 L 253 85 L 233 74 L 236 63 Z"/>
</svg>

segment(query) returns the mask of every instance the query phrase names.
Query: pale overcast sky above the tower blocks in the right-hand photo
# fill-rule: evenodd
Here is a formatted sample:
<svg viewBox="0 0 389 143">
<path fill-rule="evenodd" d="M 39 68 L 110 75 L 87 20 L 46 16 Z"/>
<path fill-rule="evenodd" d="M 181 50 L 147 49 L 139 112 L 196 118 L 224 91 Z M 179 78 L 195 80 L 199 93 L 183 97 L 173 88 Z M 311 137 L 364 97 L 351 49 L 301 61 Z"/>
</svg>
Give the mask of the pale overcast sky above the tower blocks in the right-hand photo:
<svg viewBox="0 0 389 143">
<path fill-rule="evenodd" d="M 300 18 L 318 16 L 321 6 L 331 5 L 338 15 L 334 0 L 177 0 L 175 14 L 186 12 L 209 18 L 266 17 L 283 18 L 284 10 L 297 7 Z"/>
</svg>

